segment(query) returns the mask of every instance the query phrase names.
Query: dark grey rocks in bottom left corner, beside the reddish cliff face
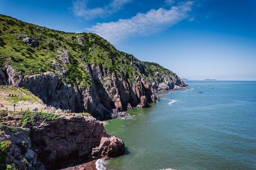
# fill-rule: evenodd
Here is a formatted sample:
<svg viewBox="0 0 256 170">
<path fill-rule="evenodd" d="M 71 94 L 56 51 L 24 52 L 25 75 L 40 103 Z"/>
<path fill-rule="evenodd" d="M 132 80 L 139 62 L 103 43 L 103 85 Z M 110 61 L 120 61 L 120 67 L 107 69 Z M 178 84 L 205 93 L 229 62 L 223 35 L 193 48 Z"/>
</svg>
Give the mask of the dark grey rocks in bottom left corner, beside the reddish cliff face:
<svg viewBox="0 0 256 170">
<path fill-rule="evenodd" d="M 45 167 L 36 156 L 35 150 L 31 146 L 29 129 L 10 128 L 0 126 L 0 143 L 9 143 L 5 152 L 1 152 L 1 167 L 6 164 L 17 169 L 44 170 Z M 5 169 L 5 168 L 4 168 Z"/>
</svg>

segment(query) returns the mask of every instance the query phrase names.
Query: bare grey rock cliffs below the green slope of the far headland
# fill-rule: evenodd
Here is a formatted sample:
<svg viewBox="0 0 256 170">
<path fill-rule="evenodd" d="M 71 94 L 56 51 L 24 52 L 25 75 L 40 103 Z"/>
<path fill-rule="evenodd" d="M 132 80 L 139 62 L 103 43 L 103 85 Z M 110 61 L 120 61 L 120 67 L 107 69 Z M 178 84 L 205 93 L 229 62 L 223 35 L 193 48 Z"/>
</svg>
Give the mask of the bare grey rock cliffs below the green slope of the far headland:
<svg viewBox="0 0 256 170">
<path fill-rule="evenodd" d="M 157 80 L 145 80 L 137 76 L 134 83 L 129 83 L 126 74 L 119 75 L 96 65 L 84 65 L 84 69 L 88 70 L 92 87 L 67 84 L 60 80 L 60 74 L 51 72 L 23 76 L 11 66 L 6 66 L 7 78 L 1 78 L 0 82 L 8 80 L 8 85 L 29 89 L 44 103 L 55 108 L 73 112 L 86 111 L 99 120 L 116 117 L 113 110 L 125 111 L 134 106 L 148 107 L 156 101 L 157 91 L 186 86 L 177 76 L 159 76 Z M 145 71 L 145 66 L 140 65 L 140 69 Z M 61 75 L 65 76 L 67 72 L 63 71 Z"/>
</svg>

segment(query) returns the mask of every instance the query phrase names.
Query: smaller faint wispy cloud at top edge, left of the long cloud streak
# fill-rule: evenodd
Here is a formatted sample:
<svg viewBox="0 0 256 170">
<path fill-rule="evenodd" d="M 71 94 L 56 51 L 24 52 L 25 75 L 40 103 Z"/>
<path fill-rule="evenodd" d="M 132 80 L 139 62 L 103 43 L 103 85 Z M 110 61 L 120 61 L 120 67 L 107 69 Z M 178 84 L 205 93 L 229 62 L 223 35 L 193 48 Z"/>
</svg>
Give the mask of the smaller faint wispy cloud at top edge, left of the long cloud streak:
<svg viewBox="0 0 256 170">
<path fill-rule="evenodd" d="M 84 17 L 86 20 L 90 20 L 96 17 L 106 17 L 106 15 L 111 15 L 131 1 L 132 0 L 113 0 L 102 8 L 88 8 L 88 1 L 75 0 L 73 1 L 72 11 L 74 15 Z"/>
</svg>

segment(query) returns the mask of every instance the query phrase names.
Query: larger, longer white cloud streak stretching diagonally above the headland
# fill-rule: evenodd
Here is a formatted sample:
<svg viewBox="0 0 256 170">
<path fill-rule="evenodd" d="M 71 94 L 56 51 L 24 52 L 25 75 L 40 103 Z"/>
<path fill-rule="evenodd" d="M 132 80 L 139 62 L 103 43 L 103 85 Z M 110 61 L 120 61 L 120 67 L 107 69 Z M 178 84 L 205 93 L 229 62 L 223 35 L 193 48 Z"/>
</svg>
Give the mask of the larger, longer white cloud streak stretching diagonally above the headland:
<svg viewBox="0 0 256 170">
<path fill-rule="evenodd" d="M 111 43 L 116 43 L 128 36 L 150 34 L 175 25 L 180 20 L 189 17 L 188 12 L 191 11 L 192 6 L 193 2 L 188 1 L 180 3 L 179 6 L 172 6 L 169 10 L 159 8 L 158 10 L 150 10 L 147 13 L 138 13 L 128 19 L 99 23 L 87 28 L 86 31 L 94 32 Z"/>
</svg>

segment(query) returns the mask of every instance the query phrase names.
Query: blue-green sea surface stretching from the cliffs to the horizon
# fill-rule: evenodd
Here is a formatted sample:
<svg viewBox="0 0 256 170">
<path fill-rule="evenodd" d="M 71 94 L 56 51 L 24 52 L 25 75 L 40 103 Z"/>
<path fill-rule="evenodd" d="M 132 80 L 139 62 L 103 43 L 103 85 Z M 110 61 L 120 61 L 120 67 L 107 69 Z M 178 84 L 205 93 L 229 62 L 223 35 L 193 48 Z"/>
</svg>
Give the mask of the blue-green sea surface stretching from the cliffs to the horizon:
<svg viewBox="0 0 256 170">
<path fill-rule="evenodd" d="M 256 169 L 256 81 L 186 83 L 106 122 L 127 146 L 108 169 Z"/>
</svg>

